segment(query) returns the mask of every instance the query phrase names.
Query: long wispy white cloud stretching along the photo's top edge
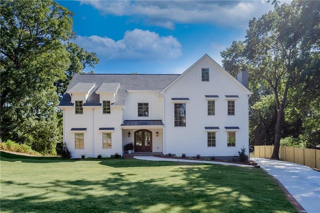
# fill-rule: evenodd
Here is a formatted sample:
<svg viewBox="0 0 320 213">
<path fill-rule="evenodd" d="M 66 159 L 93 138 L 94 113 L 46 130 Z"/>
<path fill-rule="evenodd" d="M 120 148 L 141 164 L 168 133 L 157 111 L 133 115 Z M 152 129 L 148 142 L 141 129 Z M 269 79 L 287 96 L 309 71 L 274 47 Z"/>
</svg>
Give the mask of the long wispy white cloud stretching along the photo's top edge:
<svg viewBox="0 0 320 213">
<path fill-rule="evenodd" d="M 82 0 L 81 3 L 92 5 L 105 15 L 139 16 L 146 24 L 169 29 L 173 29 L 175 23 L 212 23 L 243 28 L 253 16 L 260 17 L 273 7 L 264 0 Z"/>
</svg>

